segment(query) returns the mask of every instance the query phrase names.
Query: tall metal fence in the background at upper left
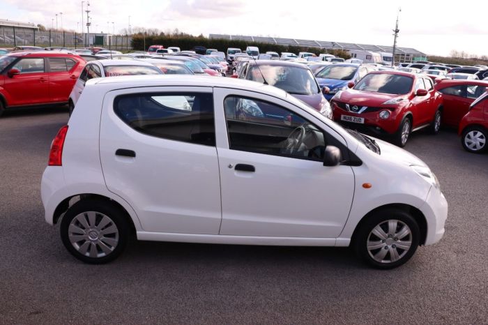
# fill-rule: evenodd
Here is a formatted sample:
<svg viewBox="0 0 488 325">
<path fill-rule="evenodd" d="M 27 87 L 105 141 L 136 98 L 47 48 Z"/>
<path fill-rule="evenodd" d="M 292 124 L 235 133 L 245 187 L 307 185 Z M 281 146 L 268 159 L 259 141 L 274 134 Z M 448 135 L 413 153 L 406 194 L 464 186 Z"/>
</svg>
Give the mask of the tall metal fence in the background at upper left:
<svg viewBox="0 0 488 325">
<path fill-rule="evenodd" d="M 38 31 L 20 27 L 0 27 L 0 47 L 22 45 L 80 48 L 91 46 L 110 47 L 112 50 L 132 50 L 131 36 L 112 36 L 101 33 L 73 33 L 69 31 Z"/>
</svg>

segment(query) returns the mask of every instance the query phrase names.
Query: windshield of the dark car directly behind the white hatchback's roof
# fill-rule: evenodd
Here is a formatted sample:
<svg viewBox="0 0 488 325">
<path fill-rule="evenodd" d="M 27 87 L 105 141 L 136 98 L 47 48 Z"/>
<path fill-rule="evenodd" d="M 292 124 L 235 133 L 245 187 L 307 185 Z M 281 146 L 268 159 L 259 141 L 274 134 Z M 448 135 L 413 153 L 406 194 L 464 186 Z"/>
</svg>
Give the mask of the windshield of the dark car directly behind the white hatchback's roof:
<svg viewBox="0 0 488 325">
<path fill-rule="evenodd" d="M 292 95 L 319 93 L 319 86 L 314 75 L 306 68 L 268 65 L 259 66 L 258 68 L 257 66 L 252 66 L 246 75 L 246 79 L 264 82 L 263 75 L 268 84 L 283 89 Z"/>
</svg>

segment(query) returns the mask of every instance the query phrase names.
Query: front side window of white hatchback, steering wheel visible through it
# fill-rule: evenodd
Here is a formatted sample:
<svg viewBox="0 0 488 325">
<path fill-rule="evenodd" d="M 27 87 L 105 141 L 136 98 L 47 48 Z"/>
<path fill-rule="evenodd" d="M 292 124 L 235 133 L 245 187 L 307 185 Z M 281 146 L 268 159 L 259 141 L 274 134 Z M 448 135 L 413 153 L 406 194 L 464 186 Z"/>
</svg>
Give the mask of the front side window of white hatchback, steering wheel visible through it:
<svg viewBox="0 0 488 325">
<path fill-rule="evenodd" d="M 268 155 L 323 160 L 326 136 L 298 114 L 254 98 L 224 100 L 229 148 Z"/>
</svg>

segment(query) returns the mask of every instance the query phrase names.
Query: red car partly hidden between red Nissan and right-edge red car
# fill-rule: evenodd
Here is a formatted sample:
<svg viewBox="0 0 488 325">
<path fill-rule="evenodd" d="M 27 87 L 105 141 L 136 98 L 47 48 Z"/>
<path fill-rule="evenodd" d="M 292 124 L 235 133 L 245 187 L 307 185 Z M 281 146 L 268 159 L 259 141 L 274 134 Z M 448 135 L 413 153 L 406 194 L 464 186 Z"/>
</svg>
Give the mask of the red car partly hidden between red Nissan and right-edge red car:
<svg viewBox="0 0 488 325">
<path fill-rule="evenodd" d="M 434 86 L 442 93 L 442 123 L 457 128 L 469 106 L 485 93 L 488 82 L 480 80 L 443 80 Z"/>
</svg>

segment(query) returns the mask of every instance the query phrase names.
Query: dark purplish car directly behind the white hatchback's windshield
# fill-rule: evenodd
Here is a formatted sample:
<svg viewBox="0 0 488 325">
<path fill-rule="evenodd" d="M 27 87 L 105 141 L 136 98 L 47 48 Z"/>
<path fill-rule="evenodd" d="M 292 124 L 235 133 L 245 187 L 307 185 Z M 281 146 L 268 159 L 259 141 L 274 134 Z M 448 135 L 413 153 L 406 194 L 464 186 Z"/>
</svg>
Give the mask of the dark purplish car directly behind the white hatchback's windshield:
<svg viewBox="0 0 488 325">
<path fill-rule="evenodd" d="M 332 109 L 323 98 L 323 90 L 312 71 L 303 64 L 276 60 L 249 61 L 238 77 L 283 89 L 332 119 Z"/>
</svg>

